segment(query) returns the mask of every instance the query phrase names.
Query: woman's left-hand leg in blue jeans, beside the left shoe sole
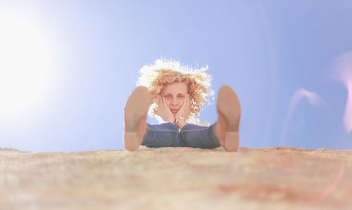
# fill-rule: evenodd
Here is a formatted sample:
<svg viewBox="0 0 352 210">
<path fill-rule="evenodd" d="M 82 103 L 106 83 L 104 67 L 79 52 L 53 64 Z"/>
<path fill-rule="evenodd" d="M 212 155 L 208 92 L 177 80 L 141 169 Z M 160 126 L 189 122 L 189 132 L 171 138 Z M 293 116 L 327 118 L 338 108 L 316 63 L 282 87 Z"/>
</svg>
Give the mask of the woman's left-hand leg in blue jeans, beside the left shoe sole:
<svg viewBox="0 0 352 210">
<path fill-rule="evenodd" d="M 178 130 L 170 122 L 163 124 L 147 124 L 142 145 L 146 147 L 180 147 Z"/>
</svg>

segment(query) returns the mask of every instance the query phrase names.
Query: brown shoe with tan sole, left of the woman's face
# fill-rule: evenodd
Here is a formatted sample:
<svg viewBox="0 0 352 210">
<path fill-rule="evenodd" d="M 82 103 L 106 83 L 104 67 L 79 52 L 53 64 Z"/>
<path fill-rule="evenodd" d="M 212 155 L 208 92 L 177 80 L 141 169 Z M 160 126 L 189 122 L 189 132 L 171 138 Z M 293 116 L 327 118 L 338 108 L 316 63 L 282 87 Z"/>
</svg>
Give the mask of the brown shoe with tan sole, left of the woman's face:
<svg viewBox="0 0 352 210">
<path fill-rule="evenodd" d="M 128 98 L 125 106 L 125 147 L 138 150 L 146 133 L 146 113 L 149 110 L 151 96 L 144 86 L 137 87 Z"/>
</svg>

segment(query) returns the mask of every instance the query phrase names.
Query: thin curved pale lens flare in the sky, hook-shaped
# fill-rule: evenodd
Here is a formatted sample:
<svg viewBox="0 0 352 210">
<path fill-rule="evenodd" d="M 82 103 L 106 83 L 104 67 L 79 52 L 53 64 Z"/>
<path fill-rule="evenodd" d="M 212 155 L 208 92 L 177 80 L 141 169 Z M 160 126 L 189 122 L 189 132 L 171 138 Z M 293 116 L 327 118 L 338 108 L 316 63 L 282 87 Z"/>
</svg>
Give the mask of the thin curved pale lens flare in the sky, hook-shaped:
<svg viewBox="0 0 352 210">
<path fill-rule="evenodd" d="M 298 89 L 298 91 L 296 91 L 294 93 L 294 96 L 292 96 L 291 102 L 289 104 L 289 112 L 288 112 L 287 118 L 285 119 L 285 122 L 284 122 L 284 128 L 282 130 L 282 136 L 281 136 L 280 145 L 283 144 L 284 138 L 286 136 L 287 124 L 289 122 L 289 119 L 291 118 L 291 114 L 292 114 L 292 112 L 294 112 L 294 109 L 295 109 L 297 103 L 300 100 L 302 100 L 303 98 L 307 98 L 309 103 L 311 103 L 314 106 L 326 105 L 325 100 L 321 96 L 319 96 L 318 94 L 310 92 L 310 91 L 307 91 L 304 88 Z"/>
</svg>

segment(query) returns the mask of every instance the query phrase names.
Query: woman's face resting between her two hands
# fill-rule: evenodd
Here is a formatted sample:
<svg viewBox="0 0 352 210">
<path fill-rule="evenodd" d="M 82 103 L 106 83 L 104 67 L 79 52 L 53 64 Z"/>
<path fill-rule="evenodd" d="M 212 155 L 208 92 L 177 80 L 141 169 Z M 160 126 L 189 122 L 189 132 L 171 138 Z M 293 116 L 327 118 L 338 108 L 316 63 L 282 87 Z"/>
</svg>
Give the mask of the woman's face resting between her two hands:
<svg viewBox="0 0 352 210">
<path fill-rule="evenodd" d="M 174 117 L 176 116 L 178 110 L 182 107 L 184 98 L 188 94 L 187 85 L 183 82 L 174 82 L 164 86 L 161 91 L 161 97 L 165 100 L 166 105 L 168 105 Z"/>
</svg>

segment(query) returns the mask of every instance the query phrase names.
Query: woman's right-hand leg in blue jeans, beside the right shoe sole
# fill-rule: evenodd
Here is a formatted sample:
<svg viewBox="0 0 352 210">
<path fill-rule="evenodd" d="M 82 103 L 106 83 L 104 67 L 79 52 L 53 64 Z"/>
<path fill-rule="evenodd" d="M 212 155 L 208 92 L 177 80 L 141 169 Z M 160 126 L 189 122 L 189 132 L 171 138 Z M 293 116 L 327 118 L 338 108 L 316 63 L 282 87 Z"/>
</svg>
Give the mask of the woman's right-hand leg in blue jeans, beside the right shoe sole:
<svg viewBox="0 0 352 210">
<path fill-rule="evenodd" d="M 218 138 L 215 136 L 215 124 L 209 127 L 186 124 L 182 127 L 179 135 L 181 147 L 199 147 L 203 149 L 220 147 Z"/>
</svg>

